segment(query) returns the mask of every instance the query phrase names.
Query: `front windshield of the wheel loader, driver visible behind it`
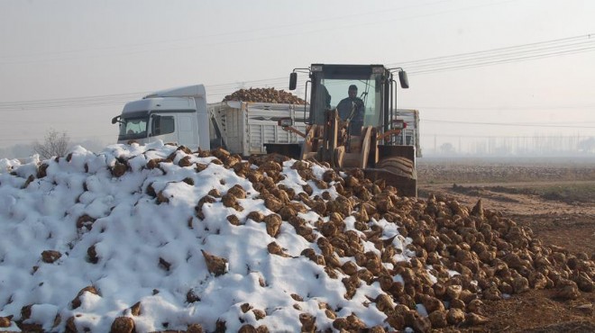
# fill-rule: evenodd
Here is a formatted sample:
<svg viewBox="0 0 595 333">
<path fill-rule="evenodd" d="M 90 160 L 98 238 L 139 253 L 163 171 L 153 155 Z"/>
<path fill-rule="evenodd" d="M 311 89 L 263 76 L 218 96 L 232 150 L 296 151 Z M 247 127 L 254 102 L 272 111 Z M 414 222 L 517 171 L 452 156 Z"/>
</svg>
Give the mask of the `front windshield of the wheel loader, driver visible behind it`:
<svg viewBox="0 0 595 333">
<path fill-rule="evenodd" d="M 353 85 L 357 88 L 357 92 L 354 98 L 348 98 L 350 87 Z M 322 124 L 326 109 L 334 109 L 345 102 L 357 101 L 356 103 L 363 103 L 363 126 L 380 126 L 382 123 L 380 85 L 379 74 L 352 77 L 341 75 L 335 78 L 329 73 L 315 73 L 312 82 L 314 91 L 311 96 L 313 111 L 310 112 L 311 121 Z M 341 113 L 341 110 L 339 111 Z"/>
</svg>

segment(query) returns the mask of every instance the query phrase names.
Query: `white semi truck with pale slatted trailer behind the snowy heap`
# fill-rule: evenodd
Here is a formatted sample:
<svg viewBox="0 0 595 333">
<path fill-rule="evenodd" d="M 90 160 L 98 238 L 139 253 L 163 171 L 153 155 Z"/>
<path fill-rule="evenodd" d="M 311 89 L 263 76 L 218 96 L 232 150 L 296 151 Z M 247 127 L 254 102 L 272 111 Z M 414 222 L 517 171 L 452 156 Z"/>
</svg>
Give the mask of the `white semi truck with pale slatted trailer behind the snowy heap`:
<svg viewBox="0 0 595 333">
<path fill-rule="evenodd" d="M 206 103 L 204 85 L 163 90 L 126 103 L 119 123 L 118 143 L 172 142 L 188 148 L 223 147 L 248 157 L 265 154 L 266 143 L 298 143 L 297 134 L 282 130 L 279 119 L 291 118 L 298 130 L 306 130 L 308 113 L 288 103 L 229 101 Z"/>
</svg>

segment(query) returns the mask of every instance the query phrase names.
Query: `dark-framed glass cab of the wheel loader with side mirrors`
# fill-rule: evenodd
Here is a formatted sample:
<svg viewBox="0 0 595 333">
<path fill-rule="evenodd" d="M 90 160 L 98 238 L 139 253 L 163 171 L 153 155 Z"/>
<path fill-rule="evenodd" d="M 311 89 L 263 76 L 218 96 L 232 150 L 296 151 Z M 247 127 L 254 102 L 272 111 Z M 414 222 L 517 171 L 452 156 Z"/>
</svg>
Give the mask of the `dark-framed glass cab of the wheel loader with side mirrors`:
<svg viewBox="0 0 595 333">
<path fill-rule="evenodd" d="M 336 108 L 348 96 L 349 87 L 355 85 L 356 97 L 363 102 L 363 126 L 372 126 L 380 132 L 390 130 L 395 112 L 392 105 L 397 98 L 393 73 L 398 71 L 401 87 L 408 88 L 407 74 L 401 68 L 313 64 L 308 69 L 310 124 L 324 124 L 325 111 Z M 290 90 L 296 88 L 296 81 L 297 73 L 294 71 L 290 76 Z"/>
</svg>

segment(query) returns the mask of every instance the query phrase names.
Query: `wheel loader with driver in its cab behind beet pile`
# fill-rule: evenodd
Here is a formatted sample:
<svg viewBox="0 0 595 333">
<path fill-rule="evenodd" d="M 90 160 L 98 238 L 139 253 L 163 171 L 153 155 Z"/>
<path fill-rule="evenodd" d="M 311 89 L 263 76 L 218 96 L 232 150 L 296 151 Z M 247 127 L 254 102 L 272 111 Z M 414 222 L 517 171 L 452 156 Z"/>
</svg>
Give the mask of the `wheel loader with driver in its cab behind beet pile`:
<svg viewBox="0 0 595 333">
<path fill-rule="evenodd" d="M 289 118 L 279 120 L 279 126 L 304 141 L 265 144 L 267 152 L 316 159 L 339 170 L 362 168 L 367 178 L 382 179 L 401 195 L 416 197 L 416 146 L 404 144 L 407 122 L 398 118 L 393 107 L 397 99 L 394 76 L 397 74 L 401 88 L 408 88 L 407 73 L 400 67 L 382 65 L 313 64 L 293 70 L 289 90 L 297 88 L 299 72 L 309 76 L 306 132 L 297 130 Z"/>
</svg>

